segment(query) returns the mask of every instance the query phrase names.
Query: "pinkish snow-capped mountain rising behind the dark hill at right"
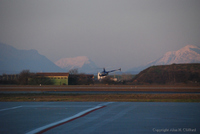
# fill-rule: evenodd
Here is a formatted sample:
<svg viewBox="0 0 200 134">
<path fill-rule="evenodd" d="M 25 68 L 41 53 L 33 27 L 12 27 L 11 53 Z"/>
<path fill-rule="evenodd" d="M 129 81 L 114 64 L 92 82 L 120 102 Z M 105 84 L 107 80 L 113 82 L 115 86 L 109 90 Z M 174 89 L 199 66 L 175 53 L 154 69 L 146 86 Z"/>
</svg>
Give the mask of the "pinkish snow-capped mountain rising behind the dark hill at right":
<svg viewBox="0 0 200 134">
<path fill-rule="evenodd" d="M 167 52 L 159 59 L 151 61 L 143 66 L 134 67 L 127 72 L 139 73 L 143 69 L 153 65 L 169 65 L 173 63 L 200 63 L 200 47 L 187 45 L 177 51 Z"/>
</svg>

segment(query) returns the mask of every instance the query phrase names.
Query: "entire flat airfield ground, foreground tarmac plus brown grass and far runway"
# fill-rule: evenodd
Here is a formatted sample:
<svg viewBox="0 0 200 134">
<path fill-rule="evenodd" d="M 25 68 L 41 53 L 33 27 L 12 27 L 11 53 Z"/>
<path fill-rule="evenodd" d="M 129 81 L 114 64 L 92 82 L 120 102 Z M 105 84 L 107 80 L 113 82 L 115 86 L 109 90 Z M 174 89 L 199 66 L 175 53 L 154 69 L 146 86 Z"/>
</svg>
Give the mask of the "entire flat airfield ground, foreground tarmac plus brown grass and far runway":
<svg viewBox="0 0 200 134">
<path fill-rule="evenodd" d="M 198 86 L 4 86 L 0 133 L 200 133 Z"/>
</svg>

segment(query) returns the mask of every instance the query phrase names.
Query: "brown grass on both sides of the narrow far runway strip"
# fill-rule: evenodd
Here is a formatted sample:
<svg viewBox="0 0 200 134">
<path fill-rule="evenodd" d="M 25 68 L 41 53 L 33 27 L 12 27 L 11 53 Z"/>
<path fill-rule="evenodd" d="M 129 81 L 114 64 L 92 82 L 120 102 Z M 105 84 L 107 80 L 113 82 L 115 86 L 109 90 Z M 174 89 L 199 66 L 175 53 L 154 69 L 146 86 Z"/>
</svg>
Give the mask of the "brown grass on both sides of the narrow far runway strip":
<svg viewBox="0 0 200 134">
<path fill-rule="evenodd" d="M 95 88 L 98 87 L 98 88 Z M 102 87 L 102 88 L 99 88 Z M 107 88 L 106 88 L 107 87 Z M 148 86 L 133 85 L 123 86 L 67 86 L 67 88 L 59 88 L 56 86 L 0 86 L 0 91 L 165 91 L 165 92 L 180 92 L 176 94 L 47 94 L 47 93 L 0 93 L 0 101 L 118 101 L 118 102 L 200 102 L 200 88 L 194 86 Z M 124 89 L 123 89 L 124 87 Z M 165 87 L 163 89 L 163 87 Z M 184 87 L 184 88 L 177 88 Z M 191 92 L 184 94 L 181 92 Z M 194 94 L 192 92 L 199 92 Z"/>
</svg>

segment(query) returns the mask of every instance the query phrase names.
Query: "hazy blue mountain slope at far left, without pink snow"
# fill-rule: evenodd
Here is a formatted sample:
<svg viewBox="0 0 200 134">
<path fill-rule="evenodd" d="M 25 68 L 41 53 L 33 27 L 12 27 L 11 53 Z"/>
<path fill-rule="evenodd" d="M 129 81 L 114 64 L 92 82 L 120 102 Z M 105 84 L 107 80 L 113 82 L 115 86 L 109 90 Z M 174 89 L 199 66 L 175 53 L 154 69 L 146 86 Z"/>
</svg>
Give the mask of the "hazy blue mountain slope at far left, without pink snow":
<svg viewBox="0 0 200 134">
<path fill-rule="evenodd" d="M 61 72 L 60 67 L 37 50 L 19 50 L 0 43 L 0 74 L 15 74 L 22 70 L 31 72 Z"/>
</svg>

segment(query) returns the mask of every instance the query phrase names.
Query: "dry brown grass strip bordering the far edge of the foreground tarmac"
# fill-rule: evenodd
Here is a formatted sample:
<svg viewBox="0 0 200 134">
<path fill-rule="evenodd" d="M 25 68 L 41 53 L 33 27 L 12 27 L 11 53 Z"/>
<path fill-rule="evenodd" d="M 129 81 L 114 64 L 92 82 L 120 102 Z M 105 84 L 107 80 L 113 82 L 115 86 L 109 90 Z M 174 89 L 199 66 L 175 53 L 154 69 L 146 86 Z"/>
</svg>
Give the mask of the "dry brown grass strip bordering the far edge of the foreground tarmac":
<svg viewBox="0 0 200 134">
<path fill-rule="evenodd" d="M 0 101 L 200 102 L 199 94 L 0 94 Z"/>
</svg>

